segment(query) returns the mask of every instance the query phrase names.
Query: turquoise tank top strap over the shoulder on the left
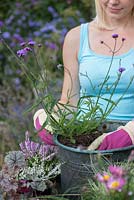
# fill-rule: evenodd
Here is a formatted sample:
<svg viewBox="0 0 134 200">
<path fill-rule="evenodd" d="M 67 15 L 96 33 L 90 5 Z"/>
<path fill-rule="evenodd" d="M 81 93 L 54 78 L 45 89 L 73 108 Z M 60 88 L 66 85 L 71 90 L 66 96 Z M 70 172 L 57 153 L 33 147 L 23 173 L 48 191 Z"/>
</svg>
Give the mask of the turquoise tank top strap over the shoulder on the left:
<svg viewBox="0 0 134 200">
<path fill-rule="evenodd" d="M 82 52 L 86 47 L 89 47 L 89 39 L 88 39 L 88 25 L 89 23 L 81 24 L 80 27 L 80 47 L 78 52 L 78 61 L 80 61 Z"/>
</svg>

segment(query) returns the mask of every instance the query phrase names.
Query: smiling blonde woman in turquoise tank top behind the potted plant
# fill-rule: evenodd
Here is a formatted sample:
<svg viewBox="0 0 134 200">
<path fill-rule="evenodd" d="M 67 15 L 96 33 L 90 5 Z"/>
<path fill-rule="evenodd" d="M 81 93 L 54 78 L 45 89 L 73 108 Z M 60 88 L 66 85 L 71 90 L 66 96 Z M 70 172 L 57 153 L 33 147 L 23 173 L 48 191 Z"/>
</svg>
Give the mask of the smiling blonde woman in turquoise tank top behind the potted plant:
<svg viewBox="0 0 134 200">
<path fill-rule="evenodd" d="M 92 80 L 92 84 L 97 90 L 109 68 L 111 60 L 109 47 L 114 48 L 111 36 L 115 33 L 119 35 L 119 38 L 108 84 L 112 85 L 115 81 L 120 65 L 126 70 L 113 95 L 113 101 L 116 101 L 123 94 L 126 85 L 129 84 L 130 78 L 134 74 L 134 0 L 95 0 L 95 6 L 97 13 L 95 19 L 90 23 L 71 29 L 65 37 L 63 45 L 65 73 L 60 99 L 63 104 L 69 101 L 70 105 L 77 106 L 77 102 L 83 93 L 96 94 L 92 85 L 89 84 L 88 78 Z M 126 38 L 123 46 L 122 38 Z M 118 49 L 120 50 L 118 51 Z M 124 98 L 109 114 L 109 120 L 127 122 L 134 118 L 133 91 L 134 84 L 131 84 Z M 105 93 L 105 91 L 103 92 Z M 70 94 L 69 98 L 68 94 Z M 109 95 L 107 92 L 104 97 L 108 99 Z M 96 97 L 94 97 L 94 100 L 96 100 Z M 105 109 L 104 102 L 100 100 L 99 103 Z M 84 107 L 85 105 L 83 105 Z M 110 127 L 110 129 L 113 129 L 113 127 Z"/>
</svg>

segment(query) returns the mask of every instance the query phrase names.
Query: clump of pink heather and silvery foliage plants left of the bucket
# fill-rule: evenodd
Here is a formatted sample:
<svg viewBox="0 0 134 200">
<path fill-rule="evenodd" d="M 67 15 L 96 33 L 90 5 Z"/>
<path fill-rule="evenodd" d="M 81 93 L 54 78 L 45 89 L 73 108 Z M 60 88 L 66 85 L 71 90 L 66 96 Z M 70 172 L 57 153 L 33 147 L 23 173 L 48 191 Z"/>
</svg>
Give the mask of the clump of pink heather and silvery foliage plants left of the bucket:
<svg viewBox="0 0 134 200">
<path fill-rule="evenodd" d="M 17 193 L 30 192 L 32 197 L 35 191 L 54 189 L 54 178 L 60 174 L 57 147 L 30 140 L 28 131 L 19 146 L 20 150 L 10 151 L 4 158 L 0 171 L 2 192 L 10 194 L 11 198 Z"/>
</svg>

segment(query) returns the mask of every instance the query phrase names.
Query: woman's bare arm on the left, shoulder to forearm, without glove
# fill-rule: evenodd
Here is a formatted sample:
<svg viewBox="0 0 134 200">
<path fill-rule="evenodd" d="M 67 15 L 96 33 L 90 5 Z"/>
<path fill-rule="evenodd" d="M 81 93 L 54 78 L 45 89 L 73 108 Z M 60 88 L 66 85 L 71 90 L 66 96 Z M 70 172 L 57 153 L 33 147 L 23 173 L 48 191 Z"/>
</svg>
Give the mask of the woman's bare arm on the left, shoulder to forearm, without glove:
<svg viewBox="0 0 134 200">
<path fill-rule="evenodd" d="M 60 103 L 77 106 L 79 100 L 79 69 L 78 51 L 80 41 L 80 26 L 71 29 L 63 44 L 64 81 Z"/>
</svg>

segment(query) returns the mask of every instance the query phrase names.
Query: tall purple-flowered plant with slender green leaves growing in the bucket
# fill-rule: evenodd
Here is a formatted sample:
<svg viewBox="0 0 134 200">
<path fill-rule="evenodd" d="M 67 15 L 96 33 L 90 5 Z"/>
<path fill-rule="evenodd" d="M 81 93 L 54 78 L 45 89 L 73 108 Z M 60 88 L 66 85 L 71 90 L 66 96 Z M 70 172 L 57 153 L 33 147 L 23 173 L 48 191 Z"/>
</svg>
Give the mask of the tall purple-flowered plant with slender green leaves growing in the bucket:
<svg viewBox="0 0 134 200">
<path fill-rule="evenodd" d="M 114 42 L 113 49 L 108 46 L 105 41 L 100 41 L 101 44 L 104 45 L 111 53 L 111 60 L 108 70 L 106 71 L 104 80 L 102 80 L 98 86 L 93 85 L 92 80 L 90 77 L 88 77 L 87 74 L 81 74 L 81 76 L 84 76 L 86 79 L 88 79 L 89 85 L 92 86 L 93 90 L 97 91 L 97 93 L 95 92 L 96 101 L 92 100 L 92 97 L 94 97 L 93 95 L 87 95 L 86 93 L 83 93 L 83 96 L 80 98 L 76 107 L 69 105 L 71 91 L 68 91 L 68 102 L 63 105 L 61 103 L 57 103 L 57 99 L 55 99 L 51 90 L 49 90 L 49 84 L 51 84 L 51 82 L 48 80 L 49 63 L 45 63 L 44 65 L 44 63 L 41 62 L 41 56 L 43 56 L 43 54 L 39 56 L 40 49 L 42 48 L 40 43 L 37 43 L 33 40 L 21 43 L 21 47 L 17 51 L 16 55 L 3 40 L 3 43 L 12 52 L 17 62 L 21 66 L 22 71 L 32 84 L 33 90 L 36 94 L 37 98 L 35 103 L 33 103 L 29 111 L 41 105 L 47 115 L 46 121 L 44 122 L 42 128 L 47 127 L 49 128 L 48 130 L 51 130 L 50 132 L 58 133 L 63 137 L 69 138 L 72 143 L 75 143 L 76 136 L 85 134 L 87 132 L 92 132 L 93 130 L 97 129 L 103 121 L 106 120 L 106 117 L 118 105 L 134 80 L 134 76 L 132 76 L 128 82 L 128 85 L 126 85 L 123 94 L 120 95 L 116 102 L 113 101 L 114 92 L 116 91 L 118 84 L 122 79 L 123 73 L 125 73 L 127 67 L 122 66 L 120 60 L 114 82 L 109 84 L 114 56 L 117 52 L 120 51 L 124 42 L 126 42 L 125 38 L 121 38 L 121 45 L 119 48 L 117 48 L 117 42 L 119 39 L 120 37 L 118 34 L 112 35 L 112 40 Z M 31 66 L 33 61 L 36 68 Z M 65 70 L 67 69 L 65 68 Z M 70 72 L 67 71 L 67 73 L 69 74 L 70 80 L 72 81 Z M 108 98 L 103 96 L 104 90 L 105 93 L 109 93 Z M 102 109 L 100 99 L 104 101 L 104 109 Z M 84 108 L 83 105 L 85 105 Z"/>
</svg>

